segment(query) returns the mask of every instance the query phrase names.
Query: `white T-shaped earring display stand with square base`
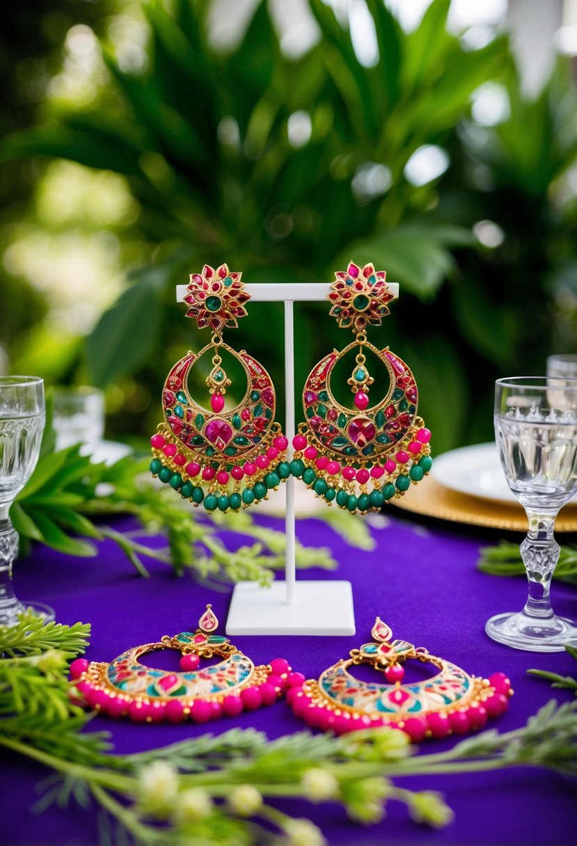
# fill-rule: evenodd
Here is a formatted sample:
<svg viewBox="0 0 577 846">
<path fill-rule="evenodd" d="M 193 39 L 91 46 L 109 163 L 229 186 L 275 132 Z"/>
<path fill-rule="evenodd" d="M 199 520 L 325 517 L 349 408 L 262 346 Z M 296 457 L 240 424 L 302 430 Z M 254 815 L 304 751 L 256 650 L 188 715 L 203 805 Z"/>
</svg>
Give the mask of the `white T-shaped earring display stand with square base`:
<svg viewBox="0 0 577 846">
<path fill-rule="evenodd" d="M 284 303 L 284 375 L 286 384 L 286 424 L 288 460 L 292 455 L 294 422 L 294 323 L 295 302 L 322 302 L 330 283 L 256 283 L 245 289 L 254 303 Z M 394 297 L 398 284 L 388 285 Z M 184 301 L 186 285 L 177 285 L 177 300 Z M 284 581 L 271 587 L 244 581 L 234 586 L 227 634 L 354 634 L 353 591 L 348 581 L 296 580 L 294 562 L 294 477 L 285 482 L 287 550 Z M 349 518 L 352 519 L 352 518 Z"/>
</svg>

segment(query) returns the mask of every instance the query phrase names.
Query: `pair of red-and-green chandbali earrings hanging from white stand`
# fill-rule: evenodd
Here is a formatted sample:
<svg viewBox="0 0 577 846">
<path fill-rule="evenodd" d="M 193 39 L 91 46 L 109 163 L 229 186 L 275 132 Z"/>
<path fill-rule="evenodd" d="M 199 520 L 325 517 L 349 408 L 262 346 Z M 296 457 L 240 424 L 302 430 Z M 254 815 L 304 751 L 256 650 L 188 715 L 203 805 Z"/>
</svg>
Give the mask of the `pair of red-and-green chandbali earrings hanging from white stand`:
<svg viewBox="0 0 577 846">
<path fill-rule="evenodd" d="M 205 265 L 190 275 L 184 301 L 186 316 L 212 338 L 199 353 L 189 352 L 168 374 L 162 391 L 163 421 L 151 437 L 151 473 L 206 511 L 247 508 L 277 490 L 294 475 L 329 505 L 351 513 L 378 511 L 393 497 L 403 496 L 431 469 L 431 432 L 417 416 L 418 392 L 409 367 L 388 347 L 366 337 L 368 326 L 380 326 L 393 299 L 384 271 L 351 262 L 335 273 L 328 299 L 330 315 L 355 338 L 333 349 L 310 371 L 303 391 L 305 422 L 288 439 L 275 420 L 276 393 L 265 368 L 244 349 L 237 352 L 223 341 L 225 328 L 236 328 L 250 299 L 239 272 L 223 264 Z M 243 398 L 225 409 L 231 385 L 222 352 L 236 359 L 246 376 Z M 343 356 L 356 350 L 347 384 L 351 403 L 338 402 L 332 377 Z M 371 404 L 374 383 L 367 351 L 387 370 L 390 385 Z M 206 376 L 208 404 L 192 397 L 188 376 L 203 356 L 212 356 Z M 210 406 L 208 408 L 207 406 Z"/>
</svg>

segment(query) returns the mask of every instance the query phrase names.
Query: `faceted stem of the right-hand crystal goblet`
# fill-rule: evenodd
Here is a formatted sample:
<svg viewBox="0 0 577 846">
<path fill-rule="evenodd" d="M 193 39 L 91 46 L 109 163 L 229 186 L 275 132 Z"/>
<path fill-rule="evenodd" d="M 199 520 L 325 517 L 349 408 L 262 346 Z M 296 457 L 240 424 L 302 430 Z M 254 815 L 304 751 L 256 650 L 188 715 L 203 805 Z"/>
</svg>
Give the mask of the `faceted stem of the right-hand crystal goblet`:
<svg viewBox="0 0 577 846">
<path fill-rule="evenodd" d="M 529 580 L 529 596 L 524 611 L 530 617 L 552 618 L 549 594 L 560 551 L 553 537 L 557 512 L 541 514 L 525 510 L 529 519 L 529 531 L 519 547 Z"/>
</svg>

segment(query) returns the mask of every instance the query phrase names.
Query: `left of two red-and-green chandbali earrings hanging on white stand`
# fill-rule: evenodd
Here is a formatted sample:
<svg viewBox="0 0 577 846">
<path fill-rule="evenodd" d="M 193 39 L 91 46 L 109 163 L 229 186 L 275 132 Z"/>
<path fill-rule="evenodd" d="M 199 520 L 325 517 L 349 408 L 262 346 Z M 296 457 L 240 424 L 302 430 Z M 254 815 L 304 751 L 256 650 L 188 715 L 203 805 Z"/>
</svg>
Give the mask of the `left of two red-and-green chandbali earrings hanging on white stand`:
<svg viewBox="0 0 577 846">
<path fill-rule="evenodd" d="M 246 315 L 250 294 L 240 276 L 225 264 L 217 270 L 205 265 L 201 273 L 190 275 L 186 316 L 199 329 L 212 329 L 212 340 L 173 366 L 162 391 L 164 421 L 151 437 L 152 475 L 195 506 L 204 502 L 206 511 L 238 511 L 258 503 L 290 475 L 288 441 L 274 421 L 271 377 L 244 349 L 237 353 L 223 342 L 223 329 L 237 327 Z M 228 411 L 224 405 L 231 381 L 223 367 L 223 349 L 239 361 L 247 382 L 244 397 Z M 188 386 L 190 368 L 204 354 L 212 354 L 206 376 L 210 410 L 195 401 Z"/>
</svg>

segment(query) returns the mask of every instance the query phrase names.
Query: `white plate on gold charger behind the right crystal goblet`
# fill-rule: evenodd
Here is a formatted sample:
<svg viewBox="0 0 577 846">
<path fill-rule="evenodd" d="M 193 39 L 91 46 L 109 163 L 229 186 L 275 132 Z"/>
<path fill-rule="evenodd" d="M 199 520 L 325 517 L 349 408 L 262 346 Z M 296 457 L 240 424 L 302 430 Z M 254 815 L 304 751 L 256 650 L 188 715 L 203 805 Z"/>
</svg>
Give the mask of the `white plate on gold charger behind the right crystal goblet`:
<svg viewBox="0 0 577 846">
<path fill-rule="evenodd" d="M 505 479 L 495 442 L 433 455 L 431 476 L 451 491 L 467 493 L 470 497 L 499 503 L 517 502 Z"/>
</svg>

